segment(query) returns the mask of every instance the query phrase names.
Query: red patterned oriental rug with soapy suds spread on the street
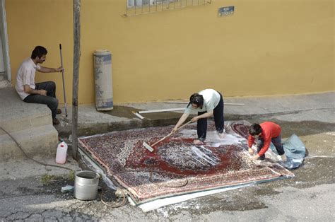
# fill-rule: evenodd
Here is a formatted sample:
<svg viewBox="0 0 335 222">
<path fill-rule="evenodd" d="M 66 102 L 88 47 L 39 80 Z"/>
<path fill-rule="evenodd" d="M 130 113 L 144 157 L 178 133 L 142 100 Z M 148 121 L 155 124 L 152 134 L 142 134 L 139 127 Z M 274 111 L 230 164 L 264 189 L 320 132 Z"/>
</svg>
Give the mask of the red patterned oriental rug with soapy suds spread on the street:
<svg viewBox="0 0 335 222">
<path fill-rule="evenodd" d="M 172 127 L 109 132 L 78 141 L 81 149 L 127 189 L 136 204 L 294 176 L 276 163 L 276 154 L 270 149 L 266 152 L 273 162 L 270 165 L 249 160 L 248 122 L 225 122 L 225 139 L 220 139 L 214 123 L 208 122 L 207 138 L 201 145 L 193 144 L 196 124 L 189 124 L 155 145 L 152 153 L 143 147 L 143 141 L 153 144 L 169 134 Z"/>
</svg>

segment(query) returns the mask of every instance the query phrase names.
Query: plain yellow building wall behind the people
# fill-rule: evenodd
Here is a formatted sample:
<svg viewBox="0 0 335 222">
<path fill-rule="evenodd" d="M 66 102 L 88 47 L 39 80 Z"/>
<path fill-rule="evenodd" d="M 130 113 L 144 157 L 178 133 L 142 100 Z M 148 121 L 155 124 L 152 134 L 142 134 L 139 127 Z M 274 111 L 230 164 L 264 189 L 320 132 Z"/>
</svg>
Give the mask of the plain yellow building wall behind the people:
<svg viewBox="0 0 335 222">
<path fill-rule="evenodd" d="M 333 0 L 212 0 L 212 4 L 124 17 L 127 0 L 81 0 L 79 103 L 94 103 L 93 51 L 112 52 L 114 103 L 335 90 Z M 219 18 L 222 6 L 235 14 Z M 63 45 L 71 103 L 73 15 L 69 0 L 6 1 L 12 76 L 35 45 L 59 66 Z M 37 74 L 36 81 L 61 74 Z"/>
</svg>

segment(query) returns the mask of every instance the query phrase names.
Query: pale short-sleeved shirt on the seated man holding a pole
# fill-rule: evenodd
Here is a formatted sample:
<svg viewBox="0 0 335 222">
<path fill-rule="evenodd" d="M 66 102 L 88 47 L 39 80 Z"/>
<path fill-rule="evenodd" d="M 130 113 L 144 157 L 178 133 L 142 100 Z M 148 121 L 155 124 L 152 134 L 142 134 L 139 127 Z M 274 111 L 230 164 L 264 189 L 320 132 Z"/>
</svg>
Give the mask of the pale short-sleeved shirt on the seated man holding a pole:
<svg viewBox="0 0 335 222">
<path fill-rule="evenodd" d="M 35 89 L 35 73 L 36 70 L 40 70 L 41 66 L 35 65 L 33 59 L 25 59 L 18 68 L 18 73 L 16 74 L 16 85 L 15 89 L 20 95 L 20 98 L 24 100 L 29 93 L 25 93 L 23 88 L 24 85 L 29 85 L 30 88 Z"/>
</svg>

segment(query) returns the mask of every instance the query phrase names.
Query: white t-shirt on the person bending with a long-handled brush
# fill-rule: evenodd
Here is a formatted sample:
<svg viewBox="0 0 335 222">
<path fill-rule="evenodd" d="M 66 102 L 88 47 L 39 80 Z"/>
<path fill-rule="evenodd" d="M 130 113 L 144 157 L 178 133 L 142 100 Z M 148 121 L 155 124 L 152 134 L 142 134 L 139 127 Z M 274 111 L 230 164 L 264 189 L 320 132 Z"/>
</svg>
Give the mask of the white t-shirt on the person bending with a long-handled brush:
<svg viewBox="0 0 335 222">
<path fill-rule="evenodd" d="M 198 94 L 204 97 L 204 105 L 202 109 L 200 107 L 194 109 L 190 104 L 184 111 L 184 113 L 190 114 L 191 112 L 210 112 L 214 110 L 214 108 L 220 102 L 220 94 L 213 89 L 204 89 L 201 90 Z"/>
</svg>

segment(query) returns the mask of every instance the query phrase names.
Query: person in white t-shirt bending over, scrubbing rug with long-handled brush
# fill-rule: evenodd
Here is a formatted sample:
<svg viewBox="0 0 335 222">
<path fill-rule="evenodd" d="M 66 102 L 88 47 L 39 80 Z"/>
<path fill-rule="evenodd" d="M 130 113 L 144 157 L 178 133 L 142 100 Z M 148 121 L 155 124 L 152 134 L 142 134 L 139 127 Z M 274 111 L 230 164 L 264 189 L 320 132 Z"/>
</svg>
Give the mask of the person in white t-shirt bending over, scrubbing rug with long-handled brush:
<svg viewBox="0 0 335 222">
<path fill-rule="evenodd" d="M 206 139 L 207 133 L 207 118 L 214 116 L 216 132 L 218 136 L 224 138 L 224 122 L 223 117 L 223 97 L 221 93 L 213 89 L 201 90 L 199 93 L 194 93 L 189 98 L 184 114 L 178 120 L 172 132 L 176 132 L 178 127 L 187 119 L 192 111 L 198 112 L 196 117 L 192 118 L 192 122 L 197 122 L 196 129 L 198 139 L 194 140 L 194 144 L 201 144 Z"/>
</svg>

